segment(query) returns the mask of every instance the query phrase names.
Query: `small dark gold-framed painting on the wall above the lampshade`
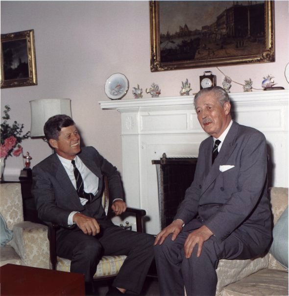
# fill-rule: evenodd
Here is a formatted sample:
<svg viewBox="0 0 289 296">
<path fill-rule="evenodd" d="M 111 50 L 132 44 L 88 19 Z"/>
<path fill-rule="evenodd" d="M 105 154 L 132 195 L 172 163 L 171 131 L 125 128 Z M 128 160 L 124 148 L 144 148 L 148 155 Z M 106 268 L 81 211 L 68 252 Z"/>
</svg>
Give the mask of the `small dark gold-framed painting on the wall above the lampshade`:
<svg viewBox="0 0 289 296">
<path fill-rule="evenodd" d="M 34 30 L 1 34 L 1 88 L 37 85 Z"/>
</svg>

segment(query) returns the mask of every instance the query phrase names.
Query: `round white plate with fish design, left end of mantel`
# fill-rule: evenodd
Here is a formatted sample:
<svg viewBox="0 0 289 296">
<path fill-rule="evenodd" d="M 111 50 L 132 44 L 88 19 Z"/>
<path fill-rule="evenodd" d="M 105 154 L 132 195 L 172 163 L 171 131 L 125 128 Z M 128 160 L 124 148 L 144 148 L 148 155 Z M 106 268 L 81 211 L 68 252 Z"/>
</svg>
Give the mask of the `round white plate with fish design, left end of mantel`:
<svg viewBox="0 0 289 296">
<path fill-rule="evenodd" d="M 104 91 L 109 99 L 121 99 L 127 90 L 128 80 L 123 74 L 112 74 L 106 79 Z"/>
</svg>

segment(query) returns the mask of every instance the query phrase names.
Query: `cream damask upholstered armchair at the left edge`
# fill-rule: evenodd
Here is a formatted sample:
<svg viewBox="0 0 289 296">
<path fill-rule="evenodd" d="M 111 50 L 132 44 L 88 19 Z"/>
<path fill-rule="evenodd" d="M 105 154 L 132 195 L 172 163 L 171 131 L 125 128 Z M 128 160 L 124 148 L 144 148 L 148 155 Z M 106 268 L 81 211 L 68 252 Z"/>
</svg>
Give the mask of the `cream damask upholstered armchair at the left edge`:
<svg viewBox="0 0 289 296">
<path fill-rule="evenodd" d="M 0 192 L 1 216 L 13 230 L 12 240 L 0 248 L 0 266 L 12 263 L 49 268 L 47 226 L 24 221 L 20 183 L 0 184 Z"/>
</svg>

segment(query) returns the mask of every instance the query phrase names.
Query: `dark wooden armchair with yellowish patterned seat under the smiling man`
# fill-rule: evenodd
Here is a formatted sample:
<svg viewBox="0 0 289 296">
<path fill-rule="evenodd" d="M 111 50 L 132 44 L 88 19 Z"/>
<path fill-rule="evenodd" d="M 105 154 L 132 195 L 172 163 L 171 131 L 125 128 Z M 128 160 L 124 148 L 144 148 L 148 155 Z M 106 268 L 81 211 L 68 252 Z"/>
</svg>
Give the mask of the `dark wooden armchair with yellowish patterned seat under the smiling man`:
<svg viewBox="0 0 289 296">
<path fill-rule="evenodd" d="M 108 182 L 106 177 L 104 177 L 104 182 L 105 182 L 105 187 L 104 187 L 104 192 L 102 196 L 102 206 L 105 209 L 107 215 L 110 217 Z M 146 214 L 145 210 L 127 207 L 126 213 L 135 215 L 137 231 L 143 232 L 142 217 L 145 216 Z M 51 267 L 53 270 L 57 270 L 57 271 L 70 271 L 71 261 L 69 259 L 61 258 L 56 255 L 56 230 L 58 227 L 59 226 L 57 224 L 51 224 L 48 227 Z M 116 276 L 120 271 L 120 267 L 122 266 L 125 258 L 126 258 L 125 255 L 102 256 L 101 260 L 97 265 L 97 270 L 94 275 L 94 280 Z"/>
</svg>

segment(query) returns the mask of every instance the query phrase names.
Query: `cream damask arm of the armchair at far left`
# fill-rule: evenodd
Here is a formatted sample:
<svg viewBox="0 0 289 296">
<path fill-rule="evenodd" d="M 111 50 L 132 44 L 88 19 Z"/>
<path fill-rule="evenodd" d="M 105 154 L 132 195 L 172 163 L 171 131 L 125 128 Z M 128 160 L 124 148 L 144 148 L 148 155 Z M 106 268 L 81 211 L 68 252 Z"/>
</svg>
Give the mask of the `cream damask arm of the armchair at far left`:
<svg viewBox="0 0 289 296">
<path fill-rule="evenodd" d="M 10 245 L 26 266 L 49 269 L 48 227 L 33 222 L 20 222 L 13 226 Z"/>
</svg>

